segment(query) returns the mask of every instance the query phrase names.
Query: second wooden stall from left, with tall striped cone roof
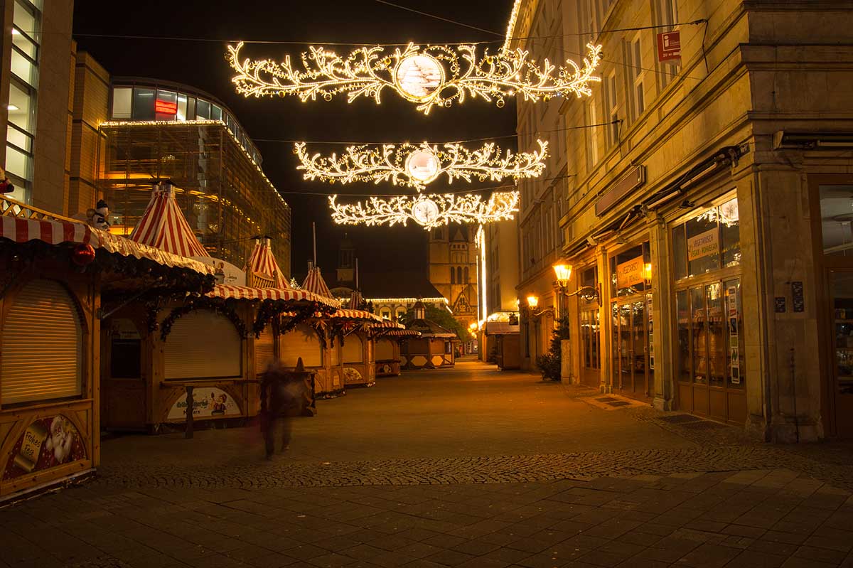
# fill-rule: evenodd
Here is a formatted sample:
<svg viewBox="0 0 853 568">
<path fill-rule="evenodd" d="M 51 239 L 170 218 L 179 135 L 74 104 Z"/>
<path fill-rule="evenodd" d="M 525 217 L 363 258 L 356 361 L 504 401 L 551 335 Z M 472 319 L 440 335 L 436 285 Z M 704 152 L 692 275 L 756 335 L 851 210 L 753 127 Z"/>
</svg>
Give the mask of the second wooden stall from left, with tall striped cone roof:
<svg viewBox="0 0 853 568">
<path fill-rule="evenodd" d="M 210 258 L 200 245 L 174 191 L 171 183 L 154 189 L 131 239 L 194 254 L 220 269 L 223 261 Z M 104 426 L 183 429 L 189 401 L 193 420 L 245 420 L 258 414 L 258 374 L 270 356 L 278 355 L 276 334 L 336 309 L 326 298 L 293 290 L 277 264 L 270 267 L 265 258 L 256 258 L 269 250 L 269 241 L 258 241 L 249 258 L 245 281 L 254 286 L 218 284 L 206 294 L 131 302 L 113 314 L 104 351 Z M 121 368 L 129 356 L 139 364 Z"/>
</svg>

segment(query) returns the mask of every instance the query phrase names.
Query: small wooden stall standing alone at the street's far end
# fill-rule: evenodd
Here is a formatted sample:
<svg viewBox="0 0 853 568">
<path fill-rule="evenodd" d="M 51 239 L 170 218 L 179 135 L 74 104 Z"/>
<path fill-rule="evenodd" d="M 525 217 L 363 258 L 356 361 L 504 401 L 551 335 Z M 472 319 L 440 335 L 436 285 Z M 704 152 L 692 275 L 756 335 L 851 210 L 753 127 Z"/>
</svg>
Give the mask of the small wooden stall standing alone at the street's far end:
<svg viewBox="0 0 853 568">
<path fill-rule="evenodd" d="M 404 369 L 443 368 L 456 365 L 455 351 L 459 338 L 456 333 L 436 322 L 427 320 L 427 308 L 415 303 L 415 320 L 406 328 L 421 333 L 419 337 L 403 339 L 400 360 Z"/>
</svg>

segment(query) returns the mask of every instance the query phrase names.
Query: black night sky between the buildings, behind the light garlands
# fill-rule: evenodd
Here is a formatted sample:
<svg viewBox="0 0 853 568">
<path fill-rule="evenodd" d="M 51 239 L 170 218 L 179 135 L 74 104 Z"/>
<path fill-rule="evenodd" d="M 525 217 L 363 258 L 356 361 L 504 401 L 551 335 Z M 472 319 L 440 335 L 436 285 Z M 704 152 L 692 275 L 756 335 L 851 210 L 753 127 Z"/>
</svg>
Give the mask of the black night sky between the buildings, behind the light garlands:
<svg viewBox="0 0 853 568">
<path fill-rule="evenodd" d="M 512 0 L 395 0 L 472 26 L 504 33 Z M 125 10 L 122 12 L 122 10 Z M 85 49 L 113 75 L 136 75 L 189 84 L 217 96 L 235 113 L 252 139 L 297 139 L 310 141 L 444 142 L 506 136 L 515 130 L 515 107 L 509 102 L 497 108 L 482 100 L 467 100 L 450 108 L 436 108 L 429 116 L 415 110 L 391 90 L 383 93 L 382 104 L 359 99 L 347 104 L 341 97 L 332 102 L 303 103 L 297 97 L 245 99 L 230 83 L 231 70 L 224 59 L 225 43 L 130 38 L 90 38 L 79 34 L 118 34 L 172 38 L 234 38 L 280 41 L 426 43 L 485 41 L 496 36 L 456 24 L 435 20 L 377 2 L 311 2 L 301 0 L 241 0 L 212 3 L 209 0 L 148 0 L 145 3 L 116 3 L 76 0 L 74 33 L 80 49 Z M 493 49 L 496 49 L 498 44 Z M 251 48 L 251 49 L 250 49 Z M 304 46 L 258 44 L 243 53 L 252 58 L 276 61 Z M 333 48 L 339 53 L 348 47 Z M 499 141 L 514 148 L 513 139 Z M 357 247 L 363 273 L 388 270 L 426 270 L 426 235 L 420 225 L 409 227 L 335 225 L 329 217 L 327 200 L 299 192 L 408 193 L 390 183 L 330 186 L 319 181 L 305 182 L 296 171 L 292 145 L 256 142 L 264 156 L 264 172 L 293 209 L 293 274 L 305 274 L 310 258 L 310 223 L 316 222 L 319 264 L 326 272 L 337 264 L 337 246 L 344 232 Z M 316 147 L 324 154 L 330 148 Z M 485 185 L 494 185 L 487 183 Z M 446 187 L 440 180 L 427 191 Z M 477 187 L 477 186 L 472 186 Z M 456 181 L 452 189 L 466 188 Z M 363 199 L 351 198 L 351 200 Z M 331 284 L 331 282 L 330 282 Z"/>
</svg>

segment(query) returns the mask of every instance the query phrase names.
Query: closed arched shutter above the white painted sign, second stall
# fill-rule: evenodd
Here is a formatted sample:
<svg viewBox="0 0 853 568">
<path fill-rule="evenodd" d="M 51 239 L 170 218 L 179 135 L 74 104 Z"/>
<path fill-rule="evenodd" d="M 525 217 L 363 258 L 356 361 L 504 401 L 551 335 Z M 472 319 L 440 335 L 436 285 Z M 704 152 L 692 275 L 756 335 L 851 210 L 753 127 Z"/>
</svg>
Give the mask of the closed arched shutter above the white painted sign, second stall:
<svg viewBox="0 0 853 568">
<path fill-rule="evenodd" d="M 191 311 L 165 339 L 165 378 L 239 378 L 241 343 L 227 317 L 212 310 Z"/>
</svg>

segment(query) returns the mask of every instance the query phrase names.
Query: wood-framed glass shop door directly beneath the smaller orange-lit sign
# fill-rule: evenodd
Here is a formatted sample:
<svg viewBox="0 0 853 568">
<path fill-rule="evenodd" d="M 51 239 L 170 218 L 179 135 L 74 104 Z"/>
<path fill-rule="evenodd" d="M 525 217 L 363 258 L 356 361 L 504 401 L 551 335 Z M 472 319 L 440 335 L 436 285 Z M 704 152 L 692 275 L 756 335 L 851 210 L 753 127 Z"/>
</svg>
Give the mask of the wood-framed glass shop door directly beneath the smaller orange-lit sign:
<svg viewBox="0 0 853 568">
<path fill-rule="evenodd" d="M 654 384 L 650 359 L 652 294 L 635 294 L 611 304 L 613 391 L 648 399 Z"/>
</svg>

